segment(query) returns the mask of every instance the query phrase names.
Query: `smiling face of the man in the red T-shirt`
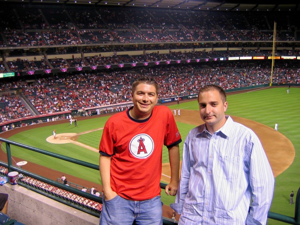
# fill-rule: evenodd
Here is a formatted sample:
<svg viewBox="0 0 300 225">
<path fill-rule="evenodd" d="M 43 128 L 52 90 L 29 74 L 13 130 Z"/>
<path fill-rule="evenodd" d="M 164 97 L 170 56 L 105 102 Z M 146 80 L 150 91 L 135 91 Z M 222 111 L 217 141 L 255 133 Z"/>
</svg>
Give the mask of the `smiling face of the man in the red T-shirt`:
<svg viewBox="0 0 300 225">
<path fill-rule="evenodd" d="M 131 93 L 131 100 L 134 107 L 129 114 L 134 119 L 147 119 L 157 103 L 158 94 L 155 85 L 140 83 L 135 86 Z"/>
</svg>

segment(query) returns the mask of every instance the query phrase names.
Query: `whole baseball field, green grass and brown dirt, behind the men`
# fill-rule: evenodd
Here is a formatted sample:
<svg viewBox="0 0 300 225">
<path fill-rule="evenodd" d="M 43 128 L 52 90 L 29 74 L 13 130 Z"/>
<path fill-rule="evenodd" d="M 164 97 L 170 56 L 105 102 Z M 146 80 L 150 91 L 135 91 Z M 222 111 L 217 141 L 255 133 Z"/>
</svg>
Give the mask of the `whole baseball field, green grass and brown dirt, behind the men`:
<svg viewBox="0 0 300 225">
<path fill-rule="evenodd" d="M 286 87 L 265 87 L 243 93 L 230 93 L 227 96 L 226 114 L 232 116 L 236 122 L 250 127 L 262 142 L 276 177 L 270 211 L 294 217 L 295 204 L 289 205 L 289 193 L 293 190 L 296 194 L 300 186 L 300 88 L 290 88 L 289 94 L 286 89 Z M 185 101 L 179 105 L 175 103 L 169 107 L 172 111 L 178 108 L 181 110 L 181 115 L 176 115 L 175 120 L 184 141 L 187 133 L 202 123 L 197 101 Z M 98 146 L 107 118 L 108 116 L 78 117 L 76 118 L 77 127 L 74 124 L 70 125 L 67 119 L 29 125 L 2 133 L 0 136 L 98 165 Z M 276 122 L 278 131 L 274 131 Z M 54 129 L 56 139 L 52 136 Z M 180 144 L 181 156 L 182 146 L 183 142 Z M 28 164 L 22 167 L 23 169 L 53 180 L 64 174 L 70 182 L 89 188 L 96 186 L 98 190 L 101 190 L 99 171 L 16 146 L 11 146 L 11 150 L 14 163 L 28 161 Z M 3 161 L 6 161 L 4 160 L 5 153 L 5 146 L 2 146 L 0 156 Z M 167 148 L 164 148 L 161 180 L 168 182 L 169 179 L 169 158 Z M 171 216 L 172 211 L 168 205 L 174 202 L 174 199 L 162 193 L 164 216 Z M 268 224 L 285 223 L 269 219 Z"/>
</svg>

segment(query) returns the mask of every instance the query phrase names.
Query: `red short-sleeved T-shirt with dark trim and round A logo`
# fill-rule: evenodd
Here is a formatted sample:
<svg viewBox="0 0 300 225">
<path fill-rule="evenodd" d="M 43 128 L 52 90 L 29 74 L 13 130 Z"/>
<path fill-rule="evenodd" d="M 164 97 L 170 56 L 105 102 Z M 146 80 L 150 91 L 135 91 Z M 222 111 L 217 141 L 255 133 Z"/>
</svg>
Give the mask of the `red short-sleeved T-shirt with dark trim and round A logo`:
<svg viewBox="0 0 300 225">
<path fill-rule="evenodd" d="M 146 200 L 160 195 L 163 145 L 181 142 L 171 110 L 155 106 L 145 120 L 135 120 L 129 110 L 111 116 L 103 130 L 99 152 L 112 156 L 111 188 L 130 200 Z"/>
</svg>

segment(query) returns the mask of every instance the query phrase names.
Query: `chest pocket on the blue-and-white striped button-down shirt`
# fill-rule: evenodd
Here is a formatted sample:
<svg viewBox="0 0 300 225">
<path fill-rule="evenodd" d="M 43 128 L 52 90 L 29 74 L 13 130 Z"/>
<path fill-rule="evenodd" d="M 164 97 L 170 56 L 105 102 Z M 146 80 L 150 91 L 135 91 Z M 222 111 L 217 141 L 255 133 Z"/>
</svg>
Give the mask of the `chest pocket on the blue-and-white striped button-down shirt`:
<svg viewBox="0 0 300 225">
<path fill-rule="evenodd" d="M 217 176 L 225 180 L 237 179 L 239 171 L 240 158 L 237 156 L 220 155 L 216 166 Z"/>
</svg>

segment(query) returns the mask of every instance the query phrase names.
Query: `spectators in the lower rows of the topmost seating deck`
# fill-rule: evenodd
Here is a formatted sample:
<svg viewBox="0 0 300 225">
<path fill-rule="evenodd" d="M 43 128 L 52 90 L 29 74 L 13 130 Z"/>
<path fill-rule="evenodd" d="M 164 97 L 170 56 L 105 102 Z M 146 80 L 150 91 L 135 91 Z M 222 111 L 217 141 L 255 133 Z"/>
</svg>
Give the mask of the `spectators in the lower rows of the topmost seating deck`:
<svg viewBox="0 0 300 225">
<path fill-rule="evenodd" d="M 252 30 L 184 30 L 166 31 L 161 30 L 141 30 L 132 28 L 119 31 L 92 31 L 92 30 L 64 30 L 64 31 L 39 31 L 28 33 L 24 31 L 14 31 L 4 33 L 5 40 L 3 46 L 45 46 L 45 45 L 71 45 L 71 44 L 98 44 L 98 43 L 136 43 L 136 42 L 182 42 L 182 41 L 273 41 L 272 31 Z M 121 35 L 120 35 L 121 34 Z M 286 34 L 276 37 L 277 41 L 295 41 L 295 36 Z"/>
</svg>

